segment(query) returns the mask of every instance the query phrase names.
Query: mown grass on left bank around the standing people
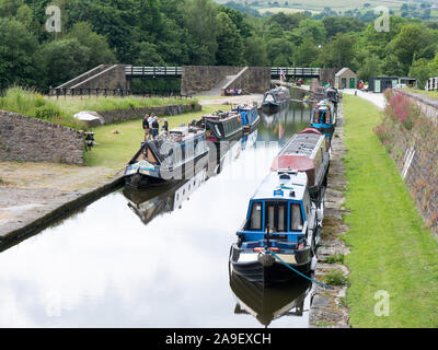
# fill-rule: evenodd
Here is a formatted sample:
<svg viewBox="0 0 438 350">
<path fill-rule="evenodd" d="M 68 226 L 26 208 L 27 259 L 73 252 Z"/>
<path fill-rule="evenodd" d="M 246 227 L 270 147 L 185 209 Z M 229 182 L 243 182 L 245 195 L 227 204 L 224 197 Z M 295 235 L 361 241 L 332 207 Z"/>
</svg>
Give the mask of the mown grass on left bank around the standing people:
<svg viewBox="0 0 438 350">
<path fill-rule="evenodd" d="M 198 119 L 203 114 L 212 113 L 218 109 L 229 110 L 229 107 L 208 105 L 203 106 L 201 112 L 166 117 L 169 128 L 174 128 L 180 124 L 187 124 L 193 119 Z M 119 131 L 119 133 L 114 133 L 113 131 L 115 130 Z M 91 151 L 85 152 L 85 165 L 113 167 L 117 171 L 125 167 L 135 152 L 138 151 L 140 142 L 145 139 L 141 119 L 96 127 L 93 129 L 93 132 L 97 144 Z"/>
</svg>

